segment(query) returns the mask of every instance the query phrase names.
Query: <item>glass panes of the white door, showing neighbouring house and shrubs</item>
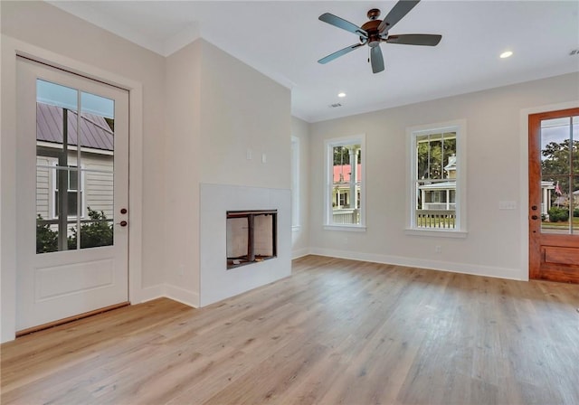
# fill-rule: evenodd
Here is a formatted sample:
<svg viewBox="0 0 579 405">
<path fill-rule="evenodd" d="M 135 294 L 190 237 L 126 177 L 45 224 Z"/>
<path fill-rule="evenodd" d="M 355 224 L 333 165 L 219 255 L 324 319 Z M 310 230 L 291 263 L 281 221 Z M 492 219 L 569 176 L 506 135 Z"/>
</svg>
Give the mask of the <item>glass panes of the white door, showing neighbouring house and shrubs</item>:
<svg viewBox="0 0 579 405">
<path fill-rule="evenodd" d="M 114 109 L 36 80 L 36 253 L 113 244 Z"/>
</svg>

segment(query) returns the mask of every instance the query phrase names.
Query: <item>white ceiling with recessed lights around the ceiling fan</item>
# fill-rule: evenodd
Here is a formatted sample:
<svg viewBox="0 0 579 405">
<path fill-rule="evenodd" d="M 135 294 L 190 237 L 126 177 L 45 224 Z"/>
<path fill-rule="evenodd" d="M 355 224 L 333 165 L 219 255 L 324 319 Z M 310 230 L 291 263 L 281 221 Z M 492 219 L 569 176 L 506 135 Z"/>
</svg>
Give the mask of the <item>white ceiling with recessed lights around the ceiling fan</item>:
<svg viewBox="0 0 579 405">
<path fill-rule="evenodd" d="M 367 47 L 319 64 L 358 40 L 318 16 L 362 25 L 369 9 L 383 18 L 394 1 L 50 3 L 165 56 L 201 36 L 289 87 L 292 114 L 309 122 L 579 71 L 579 54 L 569 55 L 579 49 L 576 0 L 422 0 L 390 33 L 440 33 L 441 43 L 382 43 L 385 71 L 377 74 Z M 507 50 L 513 56 L 499 59 Z"/>
</svg>

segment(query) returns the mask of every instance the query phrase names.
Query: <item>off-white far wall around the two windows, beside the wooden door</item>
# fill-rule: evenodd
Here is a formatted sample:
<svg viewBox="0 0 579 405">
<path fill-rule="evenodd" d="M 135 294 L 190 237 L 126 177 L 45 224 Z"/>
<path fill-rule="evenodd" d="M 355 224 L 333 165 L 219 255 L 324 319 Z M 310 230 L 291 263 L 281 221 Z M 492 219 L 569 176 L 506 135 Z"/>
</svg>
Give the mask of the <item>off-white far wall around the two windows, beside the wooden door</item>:
<svg viewBox="0 0 579 405">
<path fill-rule="evenodd" d="M 567 74 L 447 99 L 310 125 L 310 244 L 314 253 L 504 278 L 527 278 L 520 210 L 521 110 L 579 99 L 579 74 Z M 457 119 L 467 123 L 468 236 L 410 236 L 406 128 Z M 324 139 L 365 133 L 367 231 L 323 229 Z M 525 143 L 526 145 L 526 143 Z M 524 162 L 523 162 L 524 163 Z M 499 201 L 517 210 L 498 210 Z M 441 253 L 435 252 L 441 246 Z"/>
</svg>

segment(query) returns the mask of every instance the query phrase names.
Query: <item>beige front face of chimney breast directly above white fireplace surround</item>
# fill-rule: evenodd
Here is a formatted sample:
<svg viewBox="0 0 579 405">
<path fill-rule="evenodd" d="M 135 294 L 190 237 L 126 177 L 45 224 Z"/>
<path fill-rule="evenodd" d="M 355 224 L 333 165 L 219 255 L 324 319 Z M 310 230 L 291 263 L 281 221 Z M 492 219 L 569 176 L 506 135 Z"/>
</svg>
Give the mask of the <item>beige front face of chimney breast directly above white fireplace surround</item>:
<svg viewBox="0 0 579 405">
<path fill-rule="evenodd" d="M 201 182 L 289 189 L 289 89 L 201 42 Z"/>
</svg>

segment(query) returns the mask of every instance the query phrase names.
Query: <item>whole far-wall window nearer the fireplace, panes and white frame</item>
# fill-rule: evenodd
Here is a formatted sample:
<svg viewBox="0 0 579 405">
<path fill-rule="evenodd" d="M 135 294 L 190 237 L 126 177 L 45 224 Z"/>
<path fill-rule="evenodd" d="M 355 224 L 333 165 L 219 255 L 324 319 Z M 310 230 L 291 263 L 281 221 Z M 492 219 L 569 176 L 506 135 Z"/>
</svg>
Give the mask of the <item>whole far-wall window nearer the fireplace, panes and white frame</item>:
<svg viewBox="0 0 579 405">
<path fill-rule="evenodd" d="M 364 228 L 365 137 L 326 141 L 326 226 Z"/>
</svg>

